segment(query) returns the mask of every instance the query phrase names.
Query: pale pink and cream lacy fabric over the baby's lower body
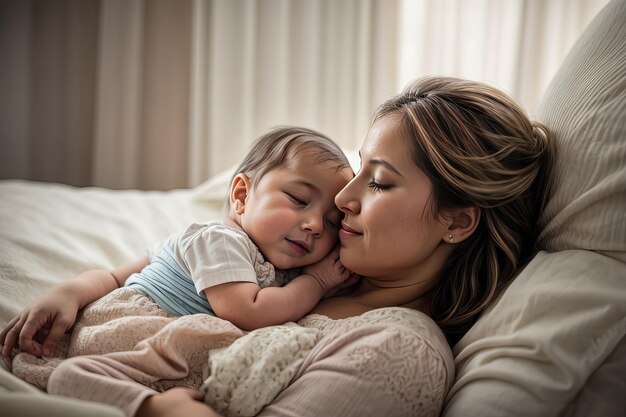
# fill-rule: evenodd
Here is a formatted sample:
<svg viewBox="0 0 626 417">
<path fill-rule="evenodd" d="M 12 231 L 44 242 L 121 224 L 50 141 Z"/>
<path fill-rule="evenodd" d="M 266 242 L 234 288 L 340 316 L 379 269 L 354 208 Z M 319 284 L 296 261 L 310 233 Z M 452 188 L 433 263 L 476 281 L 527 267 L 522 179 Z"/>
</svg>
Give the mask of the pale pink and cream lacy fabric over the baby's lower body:
<svg viewBox="0 0 626 417">
<path fill-rule="evenodd" d="M 206 314 L 175 317 L 140 292 L 119 288 L 81 311 L 53 355 L 19 352 L 11 366 L 15 376 L 46 390 L 65 359 L 107 355 L 141 371 L 133 371 L 136 380 L 155 391 L 201 387 L 205 402 L 225 416 L 254 416 L 289 384 L 318 333 L 295 323 L 247 333 Z"/>
</svg>

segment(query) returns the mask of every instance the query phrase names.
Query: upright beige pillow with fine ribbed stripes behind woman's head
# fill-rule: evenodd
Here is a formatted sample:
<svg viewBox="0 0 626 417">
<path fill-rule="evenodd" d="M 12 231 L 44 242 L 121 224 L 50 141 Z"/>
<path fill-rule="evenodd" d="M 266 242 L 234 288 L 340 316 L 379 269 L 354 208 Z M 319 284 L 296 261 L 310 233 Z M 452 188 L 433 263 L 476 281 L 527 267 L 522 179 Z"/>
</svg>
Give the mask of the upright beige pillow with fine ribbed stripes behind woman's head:
<svg viewBox="0 0 626 417">
<path fill-rule="evenodd" d="M 536 110 L 558 146 L 539 244 L 626 261 L 626 2 L 589 25 Z M 625 277 L 626 279 L 626 277 Z"/>
</svg>

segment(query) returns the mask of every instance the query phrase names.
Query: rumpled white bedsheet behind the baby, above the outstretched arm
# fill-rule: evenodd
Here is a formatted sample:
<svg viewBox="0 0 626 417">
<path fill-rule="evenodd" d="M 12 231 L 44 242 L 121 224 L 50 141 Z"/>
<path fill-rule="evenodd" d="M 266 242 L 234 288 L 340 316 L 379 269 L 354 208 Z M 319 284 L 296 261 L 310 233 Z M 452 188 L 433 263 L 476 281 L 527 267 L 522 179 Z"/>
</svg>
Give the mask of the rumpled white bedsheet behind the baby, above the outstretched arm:
<svg viewBox="0 0 626 417">
<path fill-rule="evenodd" d="M 197 195 L 0 181 L 0 324 L 54 284 L 133 261 L 189 223 L 221 217 L 221 190 Z"/>
</svg>

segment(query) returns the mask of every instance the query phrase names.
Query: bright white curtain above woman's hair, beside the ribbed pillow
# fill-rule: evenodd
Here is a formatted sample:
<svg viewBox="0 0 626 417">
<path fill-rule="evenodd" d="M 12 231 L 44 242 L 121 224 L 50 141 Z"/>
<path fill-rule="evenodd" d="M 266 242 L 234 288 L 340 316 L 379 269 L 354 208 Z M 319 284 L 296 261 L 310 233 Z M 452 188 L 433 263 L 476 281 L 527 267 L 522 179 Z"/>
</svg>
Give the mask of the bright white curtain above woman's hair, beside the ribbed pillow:
<svg viewBox="0 0 626 417">
<path fill-rule="evenodd" d="M 419 75 L 484 81 L 529 113 L 607 0 L 403 0 L 398 84 Z"/>
</svg>

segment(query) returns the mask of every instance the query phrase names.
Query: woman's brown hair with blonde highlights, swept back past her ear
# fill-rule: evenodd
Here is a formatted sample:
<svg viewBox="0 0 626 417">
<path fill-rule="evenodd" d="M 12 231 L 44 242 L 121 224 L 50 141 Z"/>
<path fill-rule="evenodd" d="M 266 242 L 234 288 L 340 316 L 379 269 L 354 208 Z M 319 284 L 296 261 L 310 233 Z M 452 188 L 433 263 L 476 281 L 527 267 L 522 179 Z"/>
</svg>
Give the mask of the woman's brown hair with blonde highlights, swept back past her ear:
<svg viewBox="0 0 626 417">
<path fill-rule="evenodd" d="M 398 114 L 416 165 L 432 182 L 431 209 L 478 207 L 431 293 L 435 321 L 455 343 L 534 253 L 552 181 L 555 144 L 506 94 L 458 78 L 422 78 L 383 103 Z"/>
</svg>

